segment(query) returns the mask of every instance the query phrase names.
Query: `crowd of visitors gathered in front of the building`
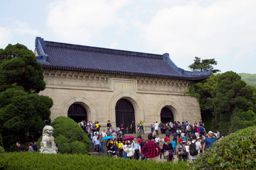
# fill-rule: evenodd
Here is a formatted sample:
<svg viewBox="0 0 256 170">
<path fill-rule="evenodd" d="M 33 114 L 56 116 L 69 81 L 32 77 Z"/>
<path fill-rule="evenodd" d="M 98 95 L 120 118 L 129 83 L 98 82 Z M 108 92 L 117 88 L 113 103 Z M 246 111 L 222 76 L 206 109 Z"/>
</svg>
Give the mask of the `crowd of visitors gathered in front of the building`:
<svg viewBox="0 0 256 170">
<path fill-rule="evenodd" d="M 106 147 L 109 157 L 124 159 L 156 160 L 156 157 L 160 156 L 160 159 L 167 161 L 173 161 L 177 157 L 178 161 L 186 162 L 189 159 L 188 155 L 191 155 L 191 160 L 194 161 L 200 152 L 205 152 L 213 145 L 213 142 L 221 137 L 218 131 L 216 133 L 209 131 L 206 134 L 202 120 L 199 123 L 195 121 L 193 124 L 178 121 L 158 123 L 156 121 L 151 124 L 147 138 L 142 138 L 144 121 L 140 120 L 137 127 L 132 121 L 129 128 L 132 133 L 137 132 L 137 138 L 132 136 L 127 140 L 124 138 L 124 126 L 121 125 L 113 130 L 110 120 L 107 122 L 107 131 L 104 129 L 102 132 L 100 132 L 100 124 L 97 120 L 95 123 L 82 120 L 78 125 L 89 137 L 90 147 L 95 149 L 95 152 L 105 152 Z M 164 138 L 159 137 L 160 133 L 161 136 L 164 135 Z M 23 150 L 20 142 L 16 142 L 16 146 L 17 152 Z M 36 142 L 30 142 L 27 150 L 36 152 Z M 56 152 L 58 152 L 58 144 Z"/>
</svg>

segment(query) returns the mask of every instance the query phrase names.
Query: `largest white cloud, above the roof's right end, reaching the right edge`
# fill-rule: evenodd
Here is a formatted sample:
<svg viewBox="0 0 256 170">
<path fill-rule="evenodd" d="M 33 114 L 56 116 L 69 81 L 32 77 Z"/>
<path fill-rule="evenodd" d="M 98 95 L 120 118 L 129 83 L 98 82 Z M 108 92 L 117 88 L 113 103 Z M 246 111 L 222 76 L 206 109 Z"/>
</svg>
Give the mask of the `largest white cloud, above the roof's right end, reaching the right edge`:
<svg viewBox="0 0 256 170">
<path fill-rule="evenodd" d="M 219 0 L 207 6 L 192 1 L 162 8 L 142 26 L 142 36 L 149 45 L 169 52 L 174 62 L 195 56 L 218 60 L 235 50 L 234 57 L 240 58 L 255 49 L 255 6 L 255 0 Z"/>
</svg>

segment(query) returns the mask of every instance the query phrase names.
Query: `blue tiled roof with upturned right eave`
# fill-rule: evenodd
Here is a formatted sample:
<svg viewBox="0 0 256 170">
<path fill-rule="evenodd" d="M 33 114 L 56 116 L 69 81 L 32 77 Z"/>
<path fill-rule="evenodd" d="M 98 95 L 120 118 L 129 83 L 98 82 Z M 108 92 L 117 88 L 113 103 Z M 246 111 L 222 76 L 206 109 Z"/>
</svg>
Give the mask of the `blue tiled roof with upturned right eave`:
<svg viewBox="0 0 256 170">
<path fill-rule="evenodd" d="M 169 55 L 112 50 L 101 47 L 72 45 L 36 38 L 37 61 L 43 68 L 70 69 L 86 72 L 129 74 L 146 77 L 200 80 L 210 72 L 188 72 L 178 68 Z"/>
</svg>

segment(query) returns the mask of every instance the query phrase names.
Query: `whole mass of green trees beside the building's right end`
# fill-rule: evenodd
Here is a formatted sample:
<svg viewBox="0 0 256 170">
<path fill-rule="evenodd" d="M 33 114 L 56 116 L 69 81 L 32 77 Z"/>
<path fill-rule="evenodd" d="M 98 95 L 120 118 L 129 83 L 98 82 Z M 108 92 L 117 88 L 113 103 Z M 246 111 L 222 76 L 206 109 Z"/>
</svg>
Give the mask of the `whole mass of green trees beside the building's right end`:
<svg viewBox="0 0 256 170">
<path fill-rule="evenodd" d="M 188 94 L 198 98 L 207 130 L 225 135 L 256 124 L 256 88 L 235 72 L 212 74 L 192 84 Z"/>
</svg>

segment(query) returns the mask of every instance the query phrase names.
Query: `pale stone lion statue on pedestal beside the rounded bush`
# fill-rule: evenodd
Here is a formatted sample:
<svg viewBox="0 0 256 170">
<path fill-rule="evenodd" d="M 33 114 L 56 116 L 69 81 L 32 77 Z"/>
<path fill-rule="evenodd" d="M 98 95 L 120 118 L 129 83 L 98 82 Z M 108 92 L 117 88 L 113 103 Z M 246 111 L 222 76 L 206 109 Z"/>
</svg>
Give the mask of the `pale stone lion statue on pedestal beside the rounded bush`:
<svg viewBox="0 0 256 170">
<path fill-rule="evenodd" d="M 43 138 L 39 151 L 44 154 L 57 154 L 53 137 L 53 127 L 50 125 L 46 125 L 43 128 Z"/>
</svg>

